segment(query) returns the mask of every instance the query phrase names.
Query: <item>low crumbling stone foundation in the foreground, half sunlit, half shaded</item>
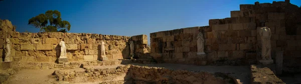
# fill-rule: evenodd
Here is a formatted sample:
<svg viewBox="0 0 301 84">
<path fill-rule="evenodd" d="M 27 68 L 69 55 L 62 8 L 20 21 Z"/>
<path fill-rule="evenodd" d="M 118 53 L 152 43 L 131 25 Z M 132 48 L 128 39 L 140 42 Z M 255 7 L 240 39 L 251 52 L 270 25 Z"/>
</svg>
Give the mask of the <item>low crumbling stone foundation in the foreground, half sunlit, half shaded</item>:
<svg viewBox="0 0 301 84">
<path fill-rule="evenodd" d="M 237 84 L 224 73 L 170 70 L 133 65 L 111 69 L 88 68 L 85 71 L 58 70 L 53 73 L 59 81 L 70 83 L 103 82 L 115 84 Z M 116 78 L 121 78 L 116 80 Z M 78 79 L 81 79 L 80 81 Z M 112 82 L 108 82 L 112 81 Z"/>
</svg>

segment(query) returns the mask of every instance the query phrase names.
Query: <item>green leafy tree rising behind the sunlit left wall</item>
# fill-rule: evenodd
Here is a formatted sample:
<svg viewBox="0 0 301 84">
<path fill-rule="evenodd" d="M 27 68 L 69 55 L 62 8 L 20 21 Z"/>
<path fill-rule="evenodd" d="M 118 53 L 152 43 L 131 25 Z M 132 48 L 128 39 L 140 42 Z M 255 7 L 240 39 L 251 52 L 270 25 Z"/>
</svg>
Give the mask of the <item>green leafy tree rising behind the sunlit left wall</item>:
<svg viewBox="0 0 301 84">
<path fill-rule="evenodd" d="M 28 20 L 28 25 L 40 28 L 40 31 L 44 32 L 67 32 L 71 27 L 68 21 L 62 21 L 61 12 L 58 10 L 48 10 L 45 14 L 42 13 L 32 17 Z"/>
</svg>

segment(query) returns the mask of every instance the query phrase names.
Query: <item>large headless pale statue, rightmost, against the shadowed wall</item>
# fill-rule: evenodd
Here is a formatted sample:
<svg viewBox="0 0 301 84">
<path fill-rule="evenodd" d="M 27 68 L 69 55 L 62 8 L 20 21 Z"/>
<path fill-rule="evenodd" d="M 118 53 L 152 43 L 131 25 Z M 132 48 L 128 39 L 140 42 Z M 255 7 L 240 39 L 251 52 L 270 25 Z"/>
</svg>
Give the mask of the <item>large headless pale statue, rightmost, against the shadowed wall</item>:
<svg viewBox="0 0 301 84">
<path fill-rule="evenodd" d="M 272 60 L 271 58 L 271 30 L 268 27 L 260 28 L 261 36 L 261 58 L 262 60 Z"/>
</svg>

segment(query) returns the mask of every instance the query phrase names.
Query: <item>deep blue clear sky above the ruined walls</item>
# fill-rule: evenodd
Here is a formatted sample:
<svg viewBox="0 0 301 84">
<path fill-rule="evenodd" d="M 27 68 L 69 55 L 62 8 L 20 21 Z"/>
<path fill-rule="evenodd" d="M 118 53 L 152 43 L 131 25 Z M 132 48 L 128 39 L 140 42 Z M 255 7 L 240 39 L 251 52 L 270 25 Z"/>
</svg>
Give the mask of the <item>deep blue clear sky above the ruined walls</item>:
<svg viewBox="0 0 301 84">
<path fill-rule="evenodd" d="M 28 19 L 59 10 L 74 33 L 133 36 L 193 26 L 206 26 L 209 19 L 230 17 L 239 4 L 272 0 L 4 0 L 0 18 L 9 19 L 17 31 L 39 32 Z M 279 0 L 276 0 L 279 1 Z M 283 0 L 282 0 L 283 1 Z M 298 6 L 301 0 L 290 0 Z"/>
</svg>

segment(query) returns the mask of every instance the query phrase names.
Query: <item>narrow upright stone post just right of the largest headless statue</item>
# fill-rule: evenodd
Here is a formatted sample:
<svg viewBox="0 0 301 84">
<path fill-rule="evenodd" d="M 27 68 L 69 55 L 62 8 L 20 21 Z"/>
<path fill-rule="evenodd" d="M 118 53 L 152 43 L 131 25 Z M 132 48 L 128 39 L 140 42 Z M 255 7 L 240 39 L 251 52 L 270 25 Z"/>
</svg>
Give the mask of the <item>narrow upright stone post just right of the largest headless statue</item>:
<svg viewBox="0 0 301 84">
<path fill-rule="evenodd" d="M 283 67 L 283 51 L 276 52 L 275 64 L 276 64 L 276 74 L 281 75 L 282 67 Z"/>
</svg>

